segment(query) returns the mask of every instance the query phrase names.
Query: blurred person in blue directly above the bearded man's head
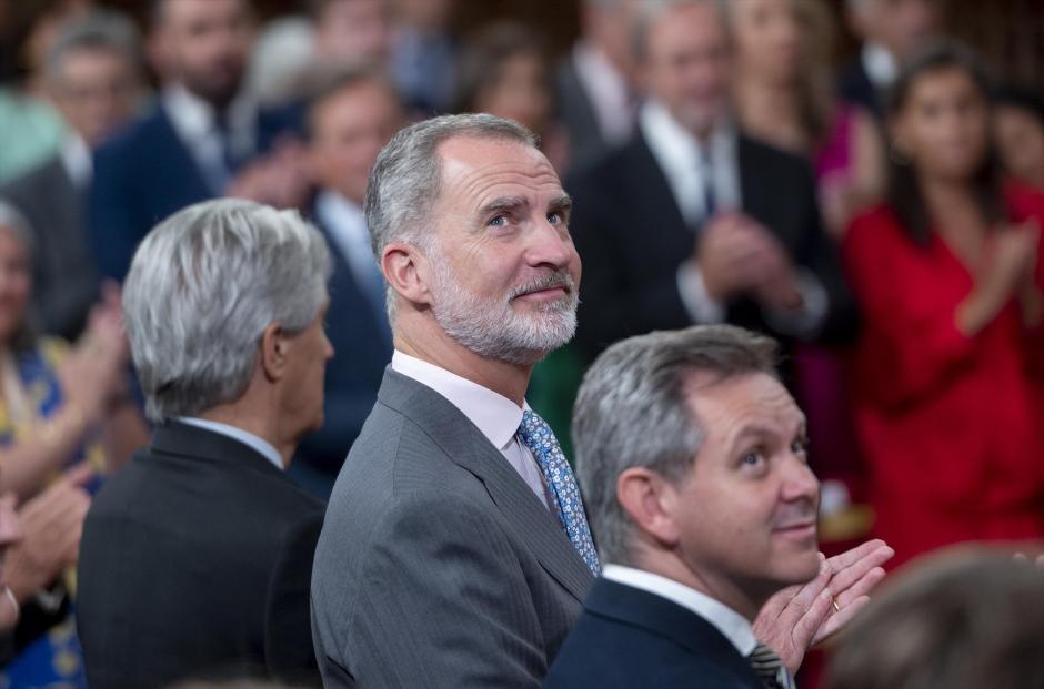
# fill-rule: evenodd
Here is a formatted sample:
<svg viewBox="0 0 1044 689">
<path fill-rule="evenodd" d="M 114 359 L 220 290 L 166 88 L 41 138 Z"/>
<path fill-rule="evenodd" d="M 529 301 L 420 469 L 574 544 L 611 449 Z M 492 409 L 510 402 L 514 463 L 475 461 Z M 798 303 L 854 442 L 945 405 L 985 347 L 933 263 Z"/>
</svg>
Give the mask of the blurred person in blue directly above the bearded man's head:
<svg viewBox="0 0 1044 689">
<path fill-rule="evenodd" d="M 451 22 L 456 0 L 394 0 L 391 67 L 412 111 L 443 114 L 453 104 L 460 47 Z"/>
</svg>

